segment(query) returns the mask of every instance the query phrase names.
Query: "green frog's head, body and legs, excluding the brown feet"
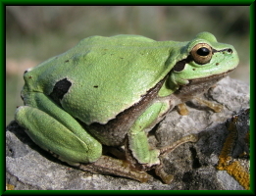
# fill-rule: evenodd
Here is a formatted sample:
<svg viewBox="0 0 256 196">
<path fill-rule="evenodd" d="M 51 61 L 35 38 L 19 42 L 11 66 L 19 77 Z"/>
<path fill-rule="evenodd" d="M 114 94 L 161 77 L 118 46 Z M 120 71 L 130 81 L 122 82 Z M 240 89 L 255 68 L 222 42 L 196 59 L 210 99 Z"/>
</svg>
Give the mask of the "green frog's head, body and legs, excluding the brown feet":
<svg viewBox="0 0 256 196">
<path fill-rule="evenodd" d="M 121 146 L 127 138 L 127 156 L 150 168 L 160 164 L 160 151 L 149 150 L 147 130 L 237 64 L 234 48 L 209 32 L 189 42 L 88 37 L 26 71 L 26 106 L 18 108 L 16 121 L 69 164 L 94 163 L 102 144 Z"/>
</svg>

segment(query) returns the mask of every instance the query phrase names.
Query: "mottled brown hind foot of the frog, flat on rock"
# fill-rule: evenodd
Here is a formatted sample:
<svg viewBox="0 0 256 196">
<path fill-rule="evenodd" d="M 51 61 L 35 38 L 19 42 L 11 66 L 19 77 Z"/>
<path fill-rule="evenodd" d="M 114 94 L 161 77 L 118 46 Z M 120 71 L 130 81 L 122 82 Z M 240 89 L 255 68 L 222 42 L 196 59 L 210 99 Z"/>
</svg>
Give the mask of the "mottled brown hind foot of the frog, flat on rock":
<svg viewBox="0 0 256 196">
<path fill-rule="evenodd" d="M 86 172 L 125 176 L 140 182 L 146 182 L 150 177 L 147 172 L 134 171 L 130 168 L 128 162 L 124 160 L 118 160 L 104 155 L 94 163 L 87 165 L 79 164 L 77 168 Z"/>
</svg>

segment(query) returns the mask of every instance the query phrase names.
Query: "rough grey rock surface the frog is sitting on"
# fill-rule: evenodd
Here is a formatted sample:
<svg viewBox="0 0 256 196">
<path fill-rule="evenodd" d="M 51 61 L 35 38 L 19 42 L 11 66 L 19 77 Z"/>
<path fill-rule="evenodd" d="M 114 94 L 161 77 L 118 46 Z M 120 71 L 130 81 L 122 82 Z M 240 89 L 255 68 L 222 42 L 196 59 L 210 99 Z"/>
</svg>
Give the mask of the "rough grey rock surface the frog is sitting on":
<svg viewBox="0 0 256 196">
<path fill-rule="evenodd" d="M 37 147 L 23 128 L 12 122 L 6 131 L 6 183 L 8 189 L 47 190 L 243 190 L 239 180 L 227 171 L 217 170 L 220 153 L 229 135 L 227 120 L 238 114 L 235 123 L 238 136 L 231 147 L 231 158 L 249 171 L 249 85 L 230 77 L 221 80 L 205 96 L 224 105 L 221 113 L 187 103 L 188 116 L 176 110 L 167 115 L 149 134 L 152 145 L 172 144 L 184 135 L 197 133 L 199 140 L 185 143 L 164 159 L 165 171 L 175 175 L 171 184 L 164 184 L 153 172 L 148 182 L 91 172 L 82 172 L 52 157 Z M 245 111 L 244 111 L 245 110 Z M 154 134 L 153 134 L 154 133 Z M 156 135 L 156 136 L 153 136 Z"/>
</svg>

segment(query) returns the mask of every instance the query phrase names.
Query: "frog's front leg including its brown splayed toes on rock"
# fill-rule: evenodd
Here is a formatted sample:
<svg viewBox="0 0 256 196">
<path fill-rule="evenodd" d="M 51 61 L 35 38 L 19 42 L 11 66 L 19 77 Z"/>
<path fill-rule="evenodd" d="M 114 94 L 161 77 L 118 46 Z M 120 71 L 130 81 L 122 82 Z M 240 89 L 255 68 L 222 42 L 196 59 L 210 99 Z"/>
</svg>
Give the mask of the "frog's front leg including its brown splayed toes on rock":
<svg viewBox="0 0 256 196">
<path fill-rule="evenodd" d="M 171 183 L 174 179 L 172 174 L 166 173 L 162 165 L 162 159 L 167 153 L 175 150 L 179 145 L 186 142 L 197 141 L 197 135 L 190 134 L 182 137 L 170 146 L 160 149 L 150 149 L 147 135 L 144 129 L 159 121 L 159 118 L 169 110 L 167 102 L 156 102 L 151 105 L 131 126 L 128 131 L 128 142 L 126 144 L 126 153 L 128 161 L 134 168 L 140 167 L 140 170 L 151 170 L 162 178 L 165 183 Z"/>
</svg>

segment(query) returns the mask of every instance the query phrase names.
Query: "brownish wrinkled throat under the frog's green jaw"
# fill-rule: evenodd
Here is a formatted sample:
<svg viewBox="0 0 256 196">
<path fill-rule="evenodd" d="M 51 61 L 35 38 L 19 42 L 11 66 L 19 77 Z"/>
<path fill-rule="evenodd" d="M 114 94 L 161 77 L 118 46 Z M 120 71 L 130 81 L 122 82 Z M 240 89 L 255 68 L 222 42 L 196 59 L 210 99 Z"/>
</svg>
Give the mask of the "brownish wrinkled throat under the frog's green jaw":
<svg viewBox="0 0 256 196">
<path fill-rule="evenodd" d="M 222 78 L 226 77 L 228 73 L 230 73 L 231 71 L 232 70 L 226 73 L 220 73 L 220 74 L 214 74 L 207 77 L 190 79 L 188 80 L 189 81 L 188 84 L 180 85 L 179 89 L 175 92 L 175 94 L 184 101 L 189 100 L 196 95 L 204 93 L 206 90 L 208 90 L 218 81 L 220 81 Z"/>
</svg>

